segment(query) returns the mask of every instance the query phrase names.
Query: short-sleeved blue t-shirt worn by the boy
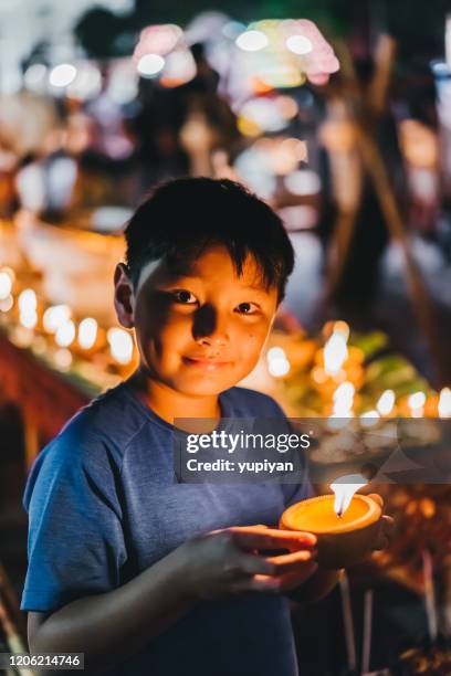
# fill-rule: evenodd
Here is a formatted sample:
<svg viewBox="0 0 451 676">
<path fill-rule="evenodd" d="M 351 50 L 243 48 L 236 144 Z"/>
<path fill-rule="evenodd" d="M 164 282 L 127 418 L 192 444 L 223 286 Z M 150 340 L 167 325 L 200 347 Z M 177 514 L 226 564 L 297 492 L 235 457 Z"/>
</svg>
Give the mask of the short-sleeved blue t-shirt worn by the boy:
<svg viewBox="0 0 451 676">
<path fill-rule="evenodd" d="M 244 388 L 219 395 L 223 418 L 284 418 Z M 287 424 L 287 422 L 286 422 Z M 81 409 L 34 461 L 24 611 L 55 611 L 135 578 L 188 538 L 229 526 L 276 526 L 311 485 L 177 484 L 174 426 L 126 382 Z M 120 622 L 120 617 L 117 619 Z M 295 676 L 285 595 L 206 601 L 109 670 L 112 676 Z"/>
</svg>

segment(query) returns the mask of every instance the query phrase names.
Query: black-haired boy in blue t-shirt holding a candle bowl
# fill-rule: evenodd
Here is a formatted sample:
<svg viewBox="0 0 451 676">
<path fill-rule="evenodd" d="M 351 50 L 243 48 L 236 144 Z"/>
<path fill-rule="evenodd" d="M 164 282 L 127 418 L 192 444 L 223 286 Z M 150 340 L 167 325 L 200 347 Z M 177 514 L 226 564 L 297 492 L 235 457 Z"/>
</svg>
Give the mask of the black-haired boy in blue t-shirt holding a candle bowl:
<svg viewBox="0 0 451 676">
<path fill-rule="evenodd" d="M 115 307 L 139 367 L 30 473 L 30 649 L 83 652 L 90 674 L 294 676 L 284 592 L 337 579 L 314 536 L 275 528 L 311 486 L 177 484 L 172 463 L 174 419 L 284 418 L 234 385 L 284 296 L 290 240 L 255 196 L 201 178 L 156 189 L 125 234 Z"/>
</svg>

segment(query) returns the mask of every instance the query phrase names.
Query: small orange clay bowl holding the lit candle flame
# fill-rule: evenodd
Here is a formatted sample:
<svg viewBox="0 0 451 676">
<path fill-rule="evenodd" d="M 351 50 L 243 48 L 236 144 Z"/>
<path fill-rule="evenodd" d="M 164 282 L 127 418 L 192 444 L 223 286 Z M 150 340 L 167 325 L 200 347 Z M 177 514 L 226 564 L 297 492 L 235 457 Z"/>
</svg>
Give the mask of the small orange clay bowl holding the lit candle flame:
<svg viewBox="0 0 451 676">
<path fill-rule="evenodd" d="M 317 561 L 323 568 L 348 568 L 370 553 L 382 510 L 373 498 L 356 494 L 338 517 L 334 499 L 334 495 L 319 495 L 296 503 L 282 514 L 279 527 L 313 532 L 317 538 Z"/>
</svg>

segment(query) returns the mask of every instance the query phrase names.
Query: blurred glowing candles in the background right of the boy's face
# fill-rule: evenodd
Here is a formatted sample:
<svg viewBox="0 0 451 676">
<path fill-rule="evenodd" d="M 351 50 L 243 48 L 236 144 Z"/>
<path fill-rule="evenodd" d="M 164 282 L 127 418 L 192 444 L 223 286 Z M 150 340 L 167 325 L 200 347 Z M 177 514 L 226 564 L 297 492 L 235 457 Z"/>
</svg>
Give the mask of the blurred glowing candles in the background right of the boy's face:
<svg viewBox="0 0 451 676">
<path fill-rule="evenodd" d="M 354 418 L 360 406 L 358 391 L 365 381 L 363 350 L 348 345 L 349 327 L 345 321 L 326 325 L 331 331 L 323 348 L 315 351 L 310 380 L 328 413 L 331 427 L 346 424 L 346 419 Z M 291 362 L 282 347 L 271 347 L 266 352 L 270 374 L 285 379 L 291 373 Z M 361 426 L 374 426 L 382 418 L 396 415 L 409 418 L 451 418 L 451 388 L 443 388 L 439 393 L 421 390 L 400 397 L 397 401 L 395 391 L 387 389 L 371 408 L 359 412 Z"/>
</svg>

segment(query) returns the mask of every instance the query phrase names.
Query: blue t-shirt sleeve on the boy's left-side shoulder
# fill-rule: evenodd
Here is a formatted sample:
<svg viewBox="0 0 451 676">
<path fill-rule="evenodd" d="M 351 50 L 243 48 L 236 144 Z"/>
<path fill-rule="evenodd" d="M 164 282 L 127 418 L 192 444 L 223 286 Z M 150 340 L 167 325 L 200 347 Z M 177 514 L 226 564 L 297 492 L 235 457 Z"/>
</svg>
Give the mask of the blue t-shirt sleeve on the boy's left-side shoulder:
<svg viewBox="0 0 451 676">
<path fill-rule="evenodd" d="M 29 535 L 21 610 L 56 610 L 120 584 L 127 552 L 118 471 L 106 444 L 70 433 L 38 456 L 23 496 Z"/>
</svg>

